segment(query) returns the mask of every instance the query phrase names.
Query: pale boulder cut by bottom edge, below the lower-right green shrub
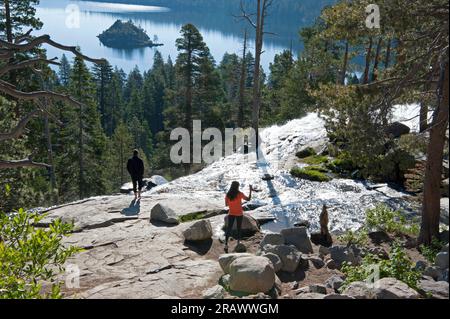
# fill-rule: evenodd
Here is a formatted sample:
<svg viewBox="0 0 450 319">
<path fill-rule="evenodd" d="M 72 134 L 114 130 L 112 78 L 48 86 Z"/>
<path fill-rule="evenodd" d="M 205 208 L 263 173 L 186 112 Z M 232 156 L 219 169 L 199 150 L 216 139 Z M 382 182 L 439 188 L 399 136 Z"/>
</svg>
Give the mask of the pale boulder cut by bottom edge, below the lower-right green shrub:
<svg viewBox="0 0 450 319">
<path fill-rule="evenodd" d="M 375 282 L 376 299 L 419 299 L 417 291 L 395 278 L 383 278 Z"/>
</svg>

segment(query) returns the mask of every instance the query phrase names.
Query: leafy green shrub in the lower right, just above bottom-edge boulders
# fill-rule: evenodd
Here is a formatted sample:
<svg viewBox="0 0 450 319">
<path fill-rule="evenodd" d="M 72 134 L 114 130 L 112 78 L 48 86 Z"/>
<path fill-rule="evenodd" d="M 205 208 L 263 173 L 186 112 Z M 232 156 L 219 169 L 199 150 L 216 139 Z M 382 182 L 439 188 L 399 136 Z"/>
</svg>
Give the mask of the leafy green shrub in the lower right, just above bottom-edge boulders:
<svg viewBox="0 0 450 319">
<path fill-rule="evenodd" d="M 387 260 L 382 260 L 377 256 L 369 254 L 363 258 L 359 266 L 352 266 L 348 263 L 344 264 L 341 271 L 345 274 L 346 278 L 340 289 L 344 290 L 352 282 L 369 279 L 374 273 L 374 266 L 377 266 L 379 269 L 379 279 L 387 277 L 396 278 L 417 290 L 417 284 L 422 274 L 414 268 L 413 263 L 398 244 L 395 244 L 391 248 L 389 259 Z"/>
</svg>

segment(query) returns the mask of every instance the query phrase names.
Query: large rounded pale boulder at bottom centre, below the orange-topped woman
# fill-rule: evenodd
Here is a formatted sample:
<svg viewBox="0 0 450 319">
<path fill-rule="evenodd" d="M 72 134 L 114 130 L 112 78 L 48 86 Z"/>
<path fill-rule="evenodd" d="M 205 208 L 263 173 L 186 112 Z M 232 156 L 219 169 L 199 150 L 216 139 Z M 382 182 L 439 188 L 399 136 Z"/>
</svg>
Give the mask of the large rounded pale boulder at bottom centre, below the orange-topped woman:
<svg viewBox="0 0 450 319">
<path fill-rule="evenodd" d="M 242 257 L 230 265 L 230 289 L 247 294 L 267 293 L 275 284 L 275 271 L 269 259 Z"/>
</svg>

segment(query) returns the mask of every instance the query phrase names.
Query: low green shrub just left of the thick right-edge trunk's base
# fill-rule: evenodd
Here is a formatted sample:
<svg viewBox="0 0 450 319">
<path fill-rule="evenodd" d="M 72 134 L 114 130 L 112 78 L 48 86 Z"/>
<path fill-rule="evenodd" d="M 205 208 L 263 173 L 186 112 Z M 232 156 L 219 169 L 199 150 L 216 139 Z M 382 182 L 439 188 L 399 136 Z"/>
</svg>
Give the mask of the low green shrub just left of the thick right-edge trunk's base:
<svg viewBox="0 0 450 319">
<path fill-rule="evenodd" d="M 419 223 L 407 220 L 402 213 L 393 211 L 384 204 L 367 210 L 366 227 L 395 235 L 417 236 L 420 231 Z"/>
</svg>

